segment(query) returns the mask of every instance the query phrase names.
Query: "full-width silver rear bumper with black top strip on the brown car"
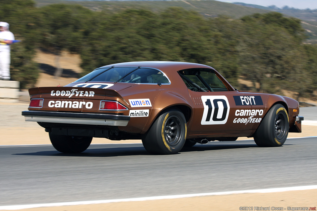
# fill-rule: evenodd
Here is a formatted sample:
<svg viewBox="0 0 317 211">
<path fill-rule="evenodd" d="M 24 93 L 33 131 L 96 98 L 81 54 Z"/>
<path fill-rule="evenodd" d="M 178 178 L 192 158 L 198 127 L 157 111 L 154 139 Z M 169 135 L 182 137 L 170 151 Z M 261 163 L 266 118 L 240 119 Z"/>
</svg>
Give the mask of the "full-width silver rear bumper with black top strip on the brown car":
<svg viewBox="0 0 317 211">
<path fill-rule="evenodd" d="M 130 116 L 113 114 L 64 113 L 50 111 L 22 111 L 25 121 L 82 125 L 127 126 Z"/>
</svg>

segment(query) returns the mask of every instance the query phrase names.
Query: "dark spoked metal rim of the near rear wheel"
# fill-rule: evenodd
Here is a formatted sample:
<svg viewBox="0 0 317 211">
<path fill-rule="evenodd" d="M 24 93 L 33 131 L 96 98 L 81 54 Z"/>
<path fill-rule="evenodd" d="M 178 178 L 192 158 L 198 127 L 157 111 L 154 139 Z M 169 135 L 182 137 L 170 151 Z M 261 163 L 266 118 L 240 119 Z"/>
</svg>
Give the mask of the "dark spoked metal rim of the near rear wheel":
<svg viewBox="0 0 317 211">
<path fill-rule="evenodd" d="M 170 116 L 164 125 L 165 140 L 170 146 L 176 146 L 181 138 L 181 124 L 177 116 Z"/>
</svg>

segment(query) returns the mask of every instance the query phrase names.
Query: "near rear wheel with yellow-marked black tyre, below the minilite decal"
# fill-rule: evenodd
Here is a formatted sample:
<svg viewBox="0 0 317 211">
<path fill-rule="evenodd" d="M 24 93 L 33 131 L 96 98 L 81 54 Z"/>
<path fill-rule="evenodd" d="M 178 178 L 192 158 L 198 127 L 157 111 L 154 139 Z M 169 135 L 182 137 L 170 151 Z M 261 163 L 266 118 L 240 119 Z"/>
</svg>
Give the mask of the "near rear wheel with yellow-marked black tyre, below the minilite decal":
<svg viewBox="0 0 317 211">
<path fill-rule="evenodd" d="M 161 114 L 142 138 L 143 146 L 151 154 L 176 154 L 184 146 L 186 120 L 178 109 Z"/>
</svg>

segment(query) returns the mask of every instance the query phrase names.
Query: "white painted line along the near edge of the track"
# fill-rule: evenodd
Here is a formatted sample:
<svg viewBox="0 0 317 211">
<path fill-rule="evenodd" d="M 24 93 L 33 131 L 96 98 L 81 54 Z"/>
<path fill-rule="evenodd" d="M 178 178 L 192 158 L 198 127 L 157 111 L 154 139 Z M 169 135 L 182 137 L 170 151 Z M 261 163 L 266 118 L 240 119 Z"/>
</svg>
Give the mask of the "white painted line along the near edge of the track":
<svg viewBox="0 0 317 211">
<path fill-rule="evenodd" d="M 238 190 L 238 191 L 226 191 L 226 192 L 214 192 L 214 193 L 184 194 L 184 195 L 164 195 L 164 196 L 128 198 L 128 199 L 110 199 L 110 200 L 81 201 L 81 202 L 60 202 L 60 203 L 47 203 L 47 204 L 11 205 L 11 206 L 0 206 L 0 210 L 15 210 L 15 209 L 39 208 L 39 207 L 72 206 L 72 205 L 87 205 L 87 204 L 101 204 L 101 203 L 112 203 L 112 202 L 137 202 L 137 201 L 148 201 L 148 200 L 159 200 L 159 199 L 178 199 L 178 198 L 188 198 L 188 197 L 195 197 L 195 196 L 229 195 L 229 194 L 240 194 L 240 193 L 274 193 L 274 192 L 284 192 L 284 191 L 292 191 L 292 190 L 310 190 L 310 189 L 317 189 L 317 185 L 297 186 L 297 187 L 288 187 L 288 188 L 269 188 L 269 189 Z"/>
</svg>

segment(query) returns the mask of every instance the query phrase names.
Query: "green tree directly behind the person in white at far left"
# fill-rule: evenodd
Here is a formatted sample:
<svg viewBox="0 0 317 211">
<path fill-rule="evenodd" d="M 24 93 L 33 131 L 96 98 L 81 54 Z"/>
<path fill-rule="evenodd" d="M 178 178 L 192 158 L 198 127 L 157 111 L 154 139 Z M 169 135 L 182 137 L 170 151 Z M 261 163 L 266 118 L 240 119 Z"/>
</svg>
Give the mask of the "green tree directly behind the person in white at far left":
<svg viewBox="0 0 317 211">
<path fill-rule="evenodd" d="M 36 83 L 39 69 L 32 62 L 38 42 L 39 16 L 32 0 L 0 0 L 0 20 L 10 24 L 16 40 L 11 45 L 10 73 L 12 80 L 20 81 L 24 89 Z"/>
</svg>

